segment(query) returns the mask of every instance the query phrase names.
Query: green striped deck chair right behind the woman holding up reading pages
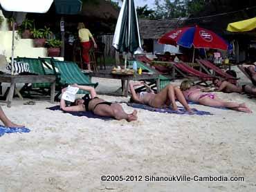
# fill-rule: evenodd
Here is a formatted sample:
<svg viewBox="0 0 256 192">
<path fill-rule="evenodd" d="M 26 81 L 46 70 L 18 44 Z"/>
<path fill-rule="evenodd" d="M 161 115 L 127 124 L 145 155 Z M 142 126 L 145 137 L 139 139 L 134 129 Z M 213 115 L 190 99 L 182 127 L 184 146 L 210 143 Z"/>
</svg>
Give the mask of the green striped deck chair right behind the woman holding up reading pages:
<svg viewBox="0 0 256 192">
<path fill-rule="evenodd" d="M 84 75 L 77 64 L 73 61 L 58 61 L 51 59 L 51 63 L 53 68 L 56 68 L 60 74 L 60 80 L 57 82 L 57 86 L 60 88 L 64 88 L 71 84 L 93 86 L 94 88 L 98 86 L 98 83 L 92 83 L 91 77 L 89 77 L 89 75 Z M 60 95 L 60 93 L 58 93 L 58 95 Z M 87 92 L 80 90 L 78 93 L 82 94 Z"/>
</svg>

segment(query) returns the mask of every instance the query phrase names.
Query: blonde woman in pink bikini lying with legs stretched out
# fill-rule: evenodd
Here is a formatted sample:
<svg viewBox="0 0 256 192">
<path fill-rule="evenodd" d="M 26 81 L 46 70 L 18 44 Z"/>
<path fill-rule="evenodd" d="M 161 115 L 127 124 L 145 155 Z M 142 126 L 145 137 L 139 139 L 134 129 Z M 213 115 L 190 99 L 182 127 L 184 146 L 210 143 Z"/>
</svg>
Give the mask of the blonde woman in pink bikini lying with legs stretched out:
<svg viewBox="0 0 256 192">
<path fill-rule="evenodd" d="M 183 91 L 185 98 L 191 102 L 199 102 L 199 104 L 204 106 L 224 107 L 235 111 L 252 113 L 246 104 L 225 102 L 219 99 L 214 93 L 203 93 L 203 88 L 201 88 L 201 86 L 192 86 L 191 81 L 183 81 L 181 83 L 181 90 Z"/>
</svg>

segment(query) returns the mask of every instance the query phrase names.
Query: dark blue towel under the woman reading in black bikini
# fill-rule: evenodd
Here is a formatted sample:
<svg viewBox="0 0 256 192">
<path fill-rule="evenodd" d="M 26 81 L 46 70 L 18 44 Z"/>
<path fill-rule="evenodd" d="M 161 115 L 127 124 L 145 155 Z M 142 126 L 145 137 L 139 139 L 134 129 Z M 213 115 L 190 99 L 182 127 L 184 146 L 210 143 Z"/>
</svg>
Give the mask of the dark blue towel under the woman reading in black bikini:
<svg viewBox="0 0 256 192">
<path fill-rule="evenodd" d="M 60 109 L 60 106 L 52 106 L 52 107 L 49 107 L 47 109 L 50 109 L 52 111 L 62 111 L 62 109 Z M 95 115 L 93 112 L 91 111 L 63 111 L 63 113 L 69 113 L 71 115 L 74 115 L 74 116 L 78 116 L 78 117 L 88 117 L 88 118 L 94 118 L 94 119 L 104 119 L 104 120 L 111 120 L 113 118 L 111 117 L 102 117 L 102 116 L 99 116 L 99 115 Z"/>
</svg>

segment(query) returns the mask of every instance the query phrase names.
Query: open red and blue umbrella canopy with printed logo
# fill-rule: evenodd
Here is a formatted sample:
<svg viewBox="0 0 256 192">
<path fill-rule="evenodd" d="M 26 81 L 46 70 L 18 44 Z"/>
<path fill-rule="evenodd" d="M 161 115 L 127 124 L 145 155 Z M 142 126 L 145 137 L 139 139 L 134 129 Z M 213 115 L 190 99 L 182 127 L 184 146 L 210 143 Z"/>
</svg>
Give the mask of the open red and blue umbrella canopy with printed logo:
<svg viewBox="0 0 256 192">
<path fill-rule="evenodd" d="M 177 28 L 167 32 L 158 42 L 160 44 L 179 45 L 185 48 L 214 48 L 227 50 L 228 44 L 219 35 L 199 26 Z"/>
</svg>

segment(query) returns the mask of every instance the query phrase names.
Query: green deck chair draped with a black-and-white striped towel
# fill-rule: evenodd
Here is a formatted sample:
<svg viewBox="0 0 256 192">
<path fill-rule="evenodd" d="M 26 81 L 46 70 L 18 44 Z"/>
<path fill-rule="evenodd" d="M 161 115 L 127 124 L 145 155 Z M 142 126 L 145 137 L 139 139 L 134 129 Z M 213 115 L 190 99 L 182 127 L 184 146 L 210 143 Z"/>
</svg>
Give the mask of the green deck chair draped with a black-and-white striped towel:
<svg viewBox="0 0 256 192">
<path fill-rule="evenodd" d="M 42 61 L 37 58 L 28 58 L 28 57 L 17 57 L 16 61 L 22 61 L 28 63 L 30 73 L 35 75 L 53 75 L 46 73 L 44 67 L 42 66 Z M 51 84 L 50 83 L 35 83 L 32 86 L 25 84 L 19 91 L 21 94 L 25 94 L 27 97 L 32 96 L 32 92 L 39 93 L 40 95 L 51 95 Z"/>
</svg>

